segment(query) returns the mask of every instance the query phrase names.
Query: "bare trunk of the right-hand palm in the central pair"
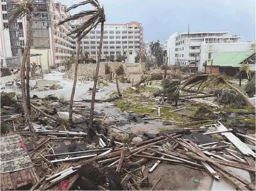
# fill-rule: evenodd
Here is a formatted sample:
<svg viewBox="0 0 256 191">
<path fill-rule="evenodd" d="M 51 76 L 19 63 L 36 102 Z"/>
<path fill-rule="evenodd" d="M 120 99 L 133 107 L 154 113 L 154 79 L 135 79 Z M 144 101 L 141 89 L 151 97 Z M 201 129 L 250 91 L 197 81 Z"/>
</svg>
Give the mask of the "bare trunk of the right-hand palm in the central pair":
<svg viewBox="0 0 256 191">
<path fill-rule="evenodd" d="M 92 128 L 92 124 L 93 124 L 94 102 L 95 102 L 95 95 L 96 95 L 97 77 L 99 75 L 99 63 L 101 61 L 101 48 L 103 46 L 103 31 L 104 31 L 104 21 L 101 22 L 101 39 L 99 41 L 99 53 L 97 54 L 97 66 L 96 66 L 96 73 L 95 73 L 95 76 L 94 76 L 94 85 L 93 85 L 93 90 L 92 90 L 92 102 L 91 102 L 89 128 Z M 88 131 L 87 140 L 89 138 L 90 138 L 90 135 L 89 135 L 89 131 Z"/>
</svg>

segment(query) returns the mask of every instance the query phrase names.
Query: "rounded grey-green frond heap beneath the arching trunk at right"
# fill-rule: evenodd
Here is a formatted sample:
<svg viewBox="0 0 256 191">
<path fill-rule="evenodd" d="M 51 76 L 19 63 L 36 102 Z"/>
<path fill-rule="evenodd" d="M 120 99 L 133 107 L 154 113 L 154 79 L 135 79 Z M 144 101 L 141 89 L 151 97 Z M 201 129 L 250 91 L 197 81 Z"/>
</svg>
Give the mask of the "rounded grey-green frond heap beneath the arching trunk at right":
<svg viewBox="0 0 256 191">
<path fill-rule="evenodd" d="M 240 93 L 232 89 L 215 90 L 214 96 L 216 96 L 216 99 L 214 101 L 218 103 L 223 103 L 223 104 L 235 103 L 237 105 L 246 104 L 245 100 L 243 99 L 243 96 L 241 96 Z"/>
</svg>

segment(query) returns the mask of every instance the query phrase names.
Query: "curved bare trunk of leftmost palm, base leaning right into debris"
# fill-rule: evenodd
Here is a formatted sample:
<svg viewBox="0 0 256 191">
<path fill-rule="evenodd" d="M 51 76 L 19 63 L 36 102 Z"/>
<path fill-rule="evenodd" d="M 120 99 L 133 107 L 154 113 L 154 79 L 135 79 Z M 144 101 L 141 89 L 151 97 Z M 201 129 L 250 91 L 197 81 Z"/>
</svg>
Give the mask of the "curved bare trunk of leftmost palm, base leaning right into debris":
<svg viewBox="0 0 256 191">
<path fill-rule="evenodd" d="M 26 100 L 26 85 L 25 85 L 25 68 L 26 68 L 26 59 L 28 56 L 30 56 L 30 41 L 31 41 L 31 32 L 29 31 L 30 29 L 30 23 L 31 23 L 31 14 L 26 15 L 26 29 L 27 29 L 27 34 L 26 34 L 26 46 L 25 46 L 25 51 L 23 54 L 23 59 L 22 59 L 22 65 L 21 65 L 21 93 L 22 93 L 22 99 L 23 99 L 23 110 L 26 116 L 26 120 L 28 121 L 28 128 L 30 130 L 31 137 L 33 140 L 37 139 L 37 135 L 35 133 L 35 130 L 33 128 L 31 118 L 30 118 L 30 113 L 28 111 L 28 103 Z"/>
</svg>

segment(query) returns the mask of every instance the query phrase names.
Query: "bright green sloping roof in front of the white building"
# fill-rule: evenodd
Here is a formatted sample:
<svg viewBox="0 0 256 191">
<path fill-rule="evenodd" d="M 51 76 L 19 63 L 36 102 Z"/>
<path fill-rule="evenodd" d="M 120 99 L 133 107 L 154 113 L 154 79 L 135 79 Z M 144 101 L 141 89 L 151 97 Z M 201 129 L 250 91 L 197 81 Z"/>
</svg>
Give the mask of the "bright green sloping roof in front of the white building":
<svg viewBox="0 0 256 191">
<path fill-rule="evenodd" d="M 213 59 L 213 66 L 240 67 L 245 59 L 252 56 L 254 52 L 223 52 Z"/>
</svg>

